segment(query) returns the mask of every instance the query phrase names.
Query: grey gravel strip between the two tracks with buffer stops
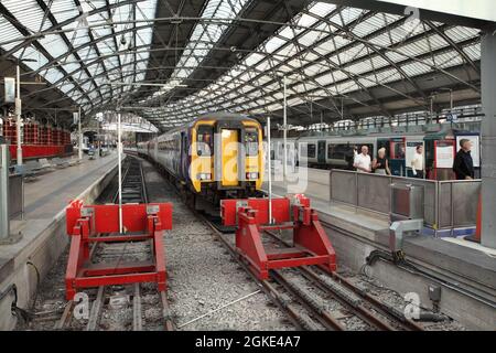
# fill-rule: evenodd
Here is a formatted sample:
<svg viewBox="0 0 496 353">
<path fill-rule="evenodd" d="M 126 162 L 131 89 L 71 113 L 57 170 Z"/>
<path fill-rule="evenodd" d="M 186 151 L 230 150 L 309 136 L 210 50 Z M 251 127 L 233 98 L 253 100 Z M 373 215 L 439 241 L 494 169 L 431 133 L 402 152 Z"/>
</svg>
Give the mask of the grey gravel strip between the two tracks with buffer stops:
<svg viewBox="0 0 496 353">
<path fill-rule="evenodd" d="M 180 330 L 294 330 L 263 292 L 181 328 L 212 310 L 260 290 L 215 242 L 212 229 L 188 210 L 163 178 L 143 163 L 150 202 L 173 203 L 173 231 L 165 235 L 168 298 Z"/>
</svg>

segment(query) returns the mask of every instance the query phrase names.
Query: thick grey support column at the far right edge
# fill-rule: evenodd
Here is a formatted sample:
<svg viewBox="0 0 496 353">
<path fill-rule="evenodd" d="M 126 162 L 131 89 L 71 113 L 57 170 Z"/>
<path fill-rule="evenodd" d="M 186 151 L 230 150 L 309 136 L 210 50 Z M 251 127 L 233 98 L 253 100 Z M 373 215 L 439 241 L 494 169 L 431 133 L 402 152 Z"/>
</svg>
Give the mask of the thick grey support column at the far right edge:
<svg viewBox="0 0 496 353">
<path fill-rule="evenodd" d="M 496 248 L 496 33 L 482 39 L 483 140 L 482 244 Z"/>
</svg>

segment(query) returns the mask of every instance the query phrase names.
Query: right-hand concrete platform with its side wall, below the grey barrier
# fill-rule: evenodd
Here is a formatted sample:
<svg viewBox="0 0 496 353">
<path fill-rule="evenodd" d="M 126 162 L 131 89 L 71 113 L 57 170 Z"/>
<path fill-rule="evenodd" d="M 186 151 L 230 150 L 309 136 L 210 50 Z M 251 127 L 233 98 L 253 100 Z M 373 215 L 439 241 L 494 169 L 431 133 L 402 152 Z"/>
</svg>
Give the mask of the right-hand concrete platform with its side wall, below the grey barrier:
<svg viewBox="0 0 496 353">
<path fill-rule="evenodd" d="M 319 212 L 322 225 L 337 253 L 338 266 L 360 271 L 375 249 L 389 253 L 389 220 L 351 205 L 331 202 L 322 175 L 309 173 L 303 192 Z M 265 190 L 267 191 L 267 184 Z M 273 196 L 291 193 L 283 183 L 272 184 Z M 377 261 L 368 272 L 399 292 L 414 291 L 430 306 L 428 286 L 443 288 L 441 308 L 470 329 L 496 330 L 496 258 L 487 248 L 456 238 L 428 235 L 407 237 L 407 259 L 430 277 L 410 272 L 393 264 Z"/>
</svg>

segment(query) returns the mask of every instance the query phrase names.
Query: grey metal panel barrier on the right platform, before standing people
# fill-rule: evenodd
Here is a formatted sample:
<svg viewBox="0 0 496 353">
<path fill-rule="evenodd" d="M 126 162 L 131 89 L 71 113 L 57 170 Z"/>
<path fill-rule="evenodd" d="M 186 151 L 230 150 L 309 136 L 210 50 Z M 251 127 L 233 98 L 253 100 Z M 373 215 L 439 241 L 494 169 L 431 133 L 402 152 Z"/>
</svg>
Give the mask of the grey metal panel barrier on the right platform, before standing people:
<svg viewBox="0 0 496 353">
<path fill-rule="evenodd" d="M 445 229 L 476 225 L 481 180 L 433 181 L 332 170 L 330 199 L 358 210 L 389 215 L 390 185 L 398 183 L 423 186 L 423 213 L 427 226 Z"/>
</svg>

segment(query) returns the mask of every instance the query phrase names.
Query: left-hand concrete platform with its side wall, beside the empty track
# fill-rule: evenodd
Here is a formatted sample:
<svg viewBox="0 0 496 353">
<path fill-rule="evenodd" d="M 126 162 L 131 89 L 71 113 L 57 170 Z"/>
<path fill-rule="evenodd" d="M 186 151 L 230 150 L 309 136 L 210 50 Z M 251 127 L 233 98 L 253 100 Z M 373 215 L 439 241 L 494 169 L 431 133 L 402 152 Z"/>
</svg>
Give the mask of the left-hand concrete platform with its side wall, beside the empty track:
<svg viewBox="0 0 496 353">
<path fill-rule="evenodd" d="M 65 207 L 93 203 L 117 173 L 117 153 L 56 169 L 24 183 L 24 217 L 11 221 L 18 243 L 0 245 L 0 330 L 11 330 L 11 304 L 29 308 L 37 285 L 66 249 Z"/>
</svg>

